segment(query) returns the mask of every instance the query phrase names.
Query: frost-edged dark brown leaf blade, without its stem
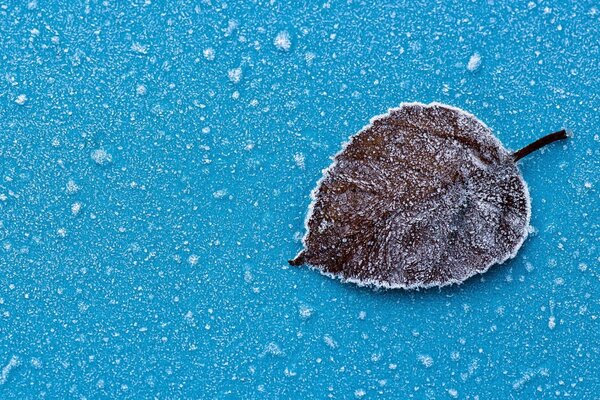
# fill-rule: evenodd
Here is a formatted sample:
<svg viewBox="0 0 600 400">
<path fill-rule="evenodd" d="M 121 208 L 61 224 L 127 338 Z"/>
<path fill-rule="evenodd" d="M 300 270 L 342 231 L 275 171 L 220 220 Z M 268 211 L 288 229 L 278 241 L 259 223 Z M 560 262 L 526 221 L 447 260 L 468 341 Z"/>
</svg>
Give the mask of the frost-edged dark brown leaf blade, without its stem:
<svg viewBox="0 0 600 400">
<path fill-rule="evenodd" d="M 530 214 L 511 154 L 473 115 L 438 103 L 373 119 L 312 198 L 290 263 L 389 288 L 458 283 L 514 257 Z"/>
</svg>

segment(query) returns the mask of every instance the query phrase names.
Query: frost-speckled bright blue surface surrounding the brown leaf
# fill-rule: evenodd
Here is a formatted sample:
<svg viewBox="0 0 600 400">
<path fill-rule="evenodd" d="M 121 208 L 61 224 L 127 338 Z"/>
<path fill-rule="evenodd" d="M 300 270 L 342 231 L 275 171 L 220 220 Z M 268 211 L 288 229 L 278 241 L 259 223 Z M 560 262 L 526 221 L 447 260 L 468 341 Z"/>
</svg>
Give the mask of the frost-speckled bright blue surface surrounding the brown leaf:
<svg viewBox="0 0 600 400">
<path fill-rule="evenodd" d="M 1 398 L 598 398 L 594 2 L 64 3 L 0 4 Z M 402 101 L 571 128 L 521 163 L 535 234 L 441 291 L 289 268 Z"/>
</svg>

